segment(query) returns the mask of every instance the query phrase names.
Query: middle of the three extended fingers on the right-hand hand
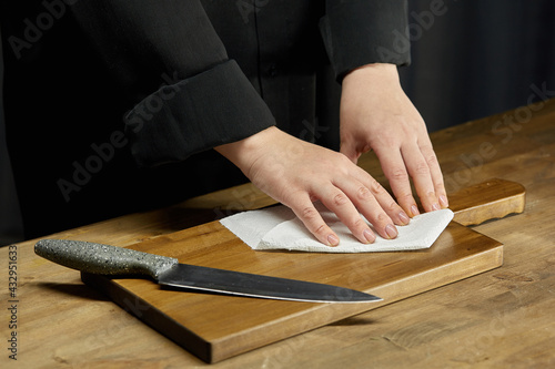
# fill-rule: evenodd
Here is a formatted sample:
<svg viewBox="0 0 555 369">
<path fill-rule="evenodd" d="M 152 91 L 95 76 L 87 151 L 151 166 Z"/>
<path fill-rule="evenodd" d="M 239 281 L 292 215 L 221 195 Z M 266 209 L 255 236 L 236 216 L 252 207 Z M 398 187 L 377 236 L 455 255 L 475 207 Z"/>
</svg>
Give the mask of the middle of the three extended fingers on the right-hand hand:
<svg viewBox="0 0 555 369">
<path fill-rule="evenodd" d="M 414 187 L 422 203 L 424 211 L 438 211 L 440 204 L 432 181 L 432 172 L 417 144 L 410 143 L 402 150 L 402 155 L 408 171 L 408 175 L 414 182 Z"/>
</svg>

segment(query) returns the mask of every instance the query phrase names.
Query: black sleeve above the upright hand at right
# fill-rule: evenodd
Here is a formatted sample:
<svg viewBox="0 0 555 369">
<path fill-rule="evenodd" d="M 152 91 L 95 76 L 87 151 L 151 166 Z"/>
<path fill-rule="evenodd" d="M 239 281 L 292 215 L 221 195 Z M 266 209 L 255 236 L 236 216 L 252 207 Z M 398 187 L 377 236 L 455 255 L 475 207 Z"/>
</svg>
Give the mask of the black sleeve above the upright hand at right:
<svg viewBox="0 0 555 369">
<path fill-rule="evenodd" d="M 408 64 L 406 18 L 406 0 L 326 0 L 320 30 L 336 79 L 370 63 Z"/>
</svg>

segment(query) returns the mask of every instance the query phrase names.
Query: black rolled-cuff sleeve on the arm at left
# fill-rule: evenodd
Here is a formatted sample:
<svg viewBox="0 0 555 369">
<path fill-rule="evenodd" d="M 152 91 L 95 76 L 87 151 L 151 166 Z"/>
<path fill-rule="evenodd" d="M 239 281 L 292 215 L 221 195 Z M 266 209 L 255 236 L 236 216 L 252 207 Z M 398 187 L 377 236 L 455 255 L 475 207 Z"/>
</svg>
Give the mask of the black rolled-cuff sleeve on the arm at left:
<svg viewBox="0 0 555 369">
<path fill-rule="evenodd" d="M 199 0 L 80 1 L 72 9 L 128 92 L 125 132 L 139 165 L 182 161 L 275 124 Z"/>
</svg>

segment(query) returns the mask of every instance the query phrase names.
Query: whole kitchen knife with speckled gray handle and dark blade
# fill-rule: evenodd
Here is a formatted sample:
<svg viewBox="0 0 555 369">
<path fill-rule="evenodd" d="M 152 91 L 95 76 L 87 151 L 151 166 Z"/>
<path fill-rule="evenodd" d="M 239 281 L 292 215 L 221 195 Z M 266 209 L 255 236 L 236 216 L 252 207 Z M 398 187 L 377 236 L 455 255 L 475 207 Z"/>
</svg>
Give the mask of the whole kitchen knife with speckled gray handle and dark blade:
<svg viewBox="0 0 555 369">
<path fill-rule="evenodd" d="M 382 300 L 350 288 L 180 264 L 173 257 L 82 240 L 40 239 L 34 245 L 34 253 L 85 273 L 150 277 L 159 285 L 185 289 L 306 303 Z"/>
</svg>

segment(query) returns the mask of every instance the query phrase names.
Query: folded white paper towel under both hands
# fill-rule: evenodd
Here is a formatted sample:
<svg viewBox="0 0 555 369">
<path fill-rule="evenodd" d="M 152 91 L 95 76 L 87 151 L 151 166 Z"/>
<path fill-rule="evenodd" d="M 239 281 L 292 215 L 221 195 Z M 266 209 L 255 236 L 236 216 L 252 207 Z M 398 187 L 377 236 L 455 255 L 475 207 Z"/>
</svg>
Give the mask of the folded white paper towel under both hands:
<svg viewBox="0 0 555 369">
<path fill-rule="evenodd" d="M 374 232 L 376 240 L 373 244 L 362 244 L 334 213 L 321 204 L 316 208 L 340 237 L 339 246 L 330 247 L 320 243 L 293 211 L 284 205 L 234 214 L 221 219 L 220 223 L 256 250 L 374 253 L 430 248 L 453 219 L 453 212 L 450 209 L 424 213 L 413 217 L 408 225 L 397 226 L 398 236 L 395 239 L 382 238 Z M 372 224 L 370 226 L 372 227 Z"/>
</svg>

